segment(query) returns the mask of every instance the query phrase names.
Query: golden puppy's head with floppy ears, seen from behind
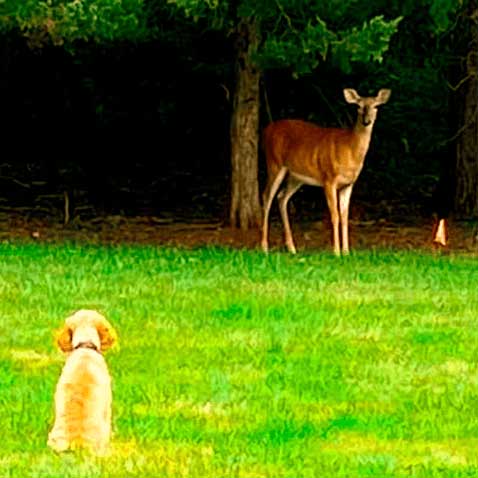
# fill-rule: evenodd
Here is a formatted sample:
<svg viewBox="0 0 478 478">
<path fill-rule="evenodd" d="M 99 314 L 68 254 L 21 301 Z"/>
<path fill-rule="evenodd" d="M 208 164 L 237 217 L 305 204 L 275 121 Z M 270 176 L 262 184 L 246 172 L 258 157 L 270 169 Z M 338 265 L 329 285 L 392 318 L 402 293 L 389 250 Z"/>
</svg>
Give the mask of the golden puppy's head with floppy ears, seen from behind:
<svg viewBox="0 0 478 478">
<path fill-rule="evenodd" d="M 63 352 L 71 352 L 82 343 L 91 343 L 99 352 L 118 340 L 111 324 L 95 310 L 79 310 L 65 320 L 56 341 Z"/>
</svg>

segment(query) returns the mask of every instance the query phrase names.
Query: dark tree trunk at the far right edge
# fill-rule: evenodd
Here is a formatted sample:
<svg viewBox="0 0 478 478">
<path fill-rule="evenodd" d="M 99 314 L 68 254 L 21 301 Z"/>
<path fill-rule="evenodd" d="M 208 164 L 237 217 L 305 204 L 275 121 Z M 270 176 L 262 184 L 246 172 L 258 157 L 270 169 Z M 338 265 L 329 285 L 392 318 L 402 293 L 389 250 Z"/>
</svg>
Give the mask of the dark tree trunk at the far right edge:
<svg viewBox="0 0 478 478">
<path fill-rule="evenodd" d="M 464 217 L 478 217 L 478 4 L 470 2 L 470 43 L 463 93 L 463 126 L 457 142 L 455 209 Z"/>
</svg>

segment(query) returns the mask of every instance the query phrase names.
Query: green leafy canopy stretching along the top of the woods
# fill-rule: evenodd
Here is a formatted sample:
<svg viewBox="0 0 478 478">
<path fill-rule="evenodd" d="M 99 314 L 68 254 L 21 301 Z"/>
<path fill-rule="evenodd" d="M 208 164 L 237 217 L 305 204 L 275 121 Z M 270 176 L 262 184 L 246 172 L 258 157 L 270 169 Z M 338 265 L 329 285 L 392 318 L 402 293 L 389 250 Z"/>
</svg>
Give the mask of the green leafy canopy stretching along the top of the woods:
<svg viewBox="0 0 478 478">
<path fill-rule="evenodd" d="M 418 3 L 429 9 L 433 32 L 440 33 L 452 27 L 464 1 Z M 178 35 L 187 28 L 185 17 L 227 35 L 241 17 L 253 17 L 262 31 L 258 64 L 291 68 L 298 76 L 325 60 L 345 72 L 356 61 L 381 62 L 401 19 L 416 7 L 416 0 L 0 0 L 0 29 L 20 30 L 32 47 L 71 47 L 78 40 L 152 38 L 171 17 L 178 22 L 169 22 L 168 29 Z"/>
</svg>

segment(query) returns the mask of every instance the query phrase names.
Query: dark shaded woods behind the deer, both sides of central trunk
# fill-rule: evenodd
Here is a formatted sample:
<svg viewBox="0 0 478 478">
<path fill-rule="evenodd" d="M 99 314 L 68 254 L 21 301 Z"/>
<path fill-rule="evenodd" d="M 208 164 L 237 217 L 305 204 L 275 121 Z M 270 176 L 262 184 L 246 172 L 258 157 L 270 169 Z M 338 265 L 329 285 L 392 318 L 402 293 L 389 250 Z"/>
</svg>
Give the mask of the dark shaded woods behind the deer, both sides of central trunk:
<svg viewBox="0 0 478 478">
<path fill-rule="evenodd" d="M 298 80 L 268 71 L 261 122 L 272 115 L 348 125 L 355 111 L 342 88 L 365 95 L 391 88 L 355 200 L 403 203 L 409 211 L 416 204 L 429 213 L 440 171 L 452 171 L 446 140 L 457 129 L 457 113 L 443 70 L 427 57 L 426 35 L 409 33 L 394 38 L 384 64 L 357 66 L 350 75 L 328 65 Z M 73 207 L 87 215 L 225 215 L 229 41 L 196 32 L 184 41 L 85 44 L 75 55 L 52 46 L 32 51 L 12 33 L 1 44 L 0 206 L 49 214 L 63 207 L 68 191 Z M 261 164 L 261 185 L 263 172 Z M 294 201 L 307 202 L 306 209 L 325 206 L 315 188 Z"/>
</svg>

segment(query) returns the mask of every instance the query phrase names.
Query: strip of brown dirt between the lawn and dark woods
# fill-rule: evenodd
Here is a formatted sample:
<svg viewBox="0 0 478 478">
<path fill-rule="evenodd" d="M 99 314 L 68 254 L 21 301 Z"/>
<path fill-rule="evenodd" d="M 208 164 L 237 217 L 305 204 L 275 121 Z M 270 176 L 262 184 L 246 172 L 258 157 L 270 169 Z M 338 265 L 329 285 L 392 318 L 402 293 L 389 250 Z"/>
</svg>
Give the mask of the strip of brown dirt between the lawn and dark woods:
<svg viewBox="0 0 478 478">
<path fill-rule="evenodd" d="M 390 222 L 384 219 L 351 221 L 350 242 L 355 250 L 372 248 L 434 248 L 431 242 L 433 221 L 415 219 Z M 331 225 L 325 221 L 296 221 L 293 225 L 298 251 L 332 250 Z M 44 243 L 74 241 L 84 244 L 150 244 L 193 248 L 228 246 L 260 249 L 258 230 L 241 231 L 221 221 L 187 222 L 155 217 L 106 216 L 88 221 L 74 220 L 66 226 L 54 220 L 28 218 L 20 214 L 0 216 L 0 242 L 26 240 Z M 271 250 L 285 250 L 282 224 L 273 222 Z M 449 223 L 449 245 L 442 251 L 478 256 L 478 226 L 466 222 Z"/>
</svg>

